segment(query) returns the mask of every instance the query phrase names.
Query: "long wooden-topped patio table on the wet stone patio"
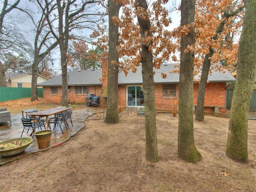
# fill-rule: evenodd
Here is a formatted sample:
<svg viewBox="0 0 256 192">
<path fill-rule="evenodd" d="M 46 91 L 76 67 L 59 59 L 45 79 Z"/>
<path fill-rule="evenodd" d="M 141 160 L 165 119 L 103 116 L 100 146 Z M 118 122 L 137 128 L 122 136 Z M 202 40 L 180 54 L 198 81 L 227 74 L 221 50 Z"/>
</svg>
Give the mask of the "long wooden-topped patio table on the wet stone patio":
<svg viewBox="0 0 256 192">
<path fill-rule="evenodd" d="M 29 113 L 29 115 L 32 116 L 32 118 L 35 118 L 35 117 L 38 117 L 38 118 L 41 118 L 41 117 L 46 117 L 46 129 L 49 128 L 49 116 L 51 115 L 56 115 L 57 113 L 61 113 L 61 112 L 66 112 L 68 109 L 70 108 L 67 108 L 67 107 L 56 107 L 56 108 L 52 108 L 52 109 L 45 109 L 45 110 L 41 110 L 41 111 L 37 111 L 37 112 L 31 112 Z"/>
</svg>

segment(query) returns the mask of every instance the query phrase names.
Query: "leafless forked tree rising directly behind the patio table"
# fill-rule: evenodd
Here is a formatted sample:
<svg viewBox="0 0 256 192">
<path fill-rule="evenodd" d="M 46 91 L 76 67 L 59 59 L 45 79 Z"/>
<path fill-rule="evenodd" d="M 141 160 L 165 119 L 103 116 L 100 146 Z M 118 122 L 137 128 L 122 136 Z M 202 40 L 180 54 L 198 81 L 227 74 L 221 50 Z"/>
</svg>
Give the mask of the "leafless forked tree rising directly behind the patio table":
<svg viewBox="0 0 256 192">
<path fill-rule="evenodd" d="M 45 0 L 45 3 L 48 6 L 46 10 L 42 11 L 53 36 L 60 46 L 62 105 L 68 106 L 68 41 L 70 38 L 82 39 L 82 36 L 78 37 L 75 33 L 75 31 L 80 29 L 88 28 L 94 32 L 97 31 L 97 27 L 104 23 L 102 16 L 105 13 L 100 12 L 100 8 L 97 5 L 102 2 L 97 0 L 88 0 L 85 2 L 82 0 Z M 57 7 L 58 27 L 54 26 L 50 19 L 51 16 L 56 17 L 56 14 L 50 13 L 52 7 Z"/>
</svg>

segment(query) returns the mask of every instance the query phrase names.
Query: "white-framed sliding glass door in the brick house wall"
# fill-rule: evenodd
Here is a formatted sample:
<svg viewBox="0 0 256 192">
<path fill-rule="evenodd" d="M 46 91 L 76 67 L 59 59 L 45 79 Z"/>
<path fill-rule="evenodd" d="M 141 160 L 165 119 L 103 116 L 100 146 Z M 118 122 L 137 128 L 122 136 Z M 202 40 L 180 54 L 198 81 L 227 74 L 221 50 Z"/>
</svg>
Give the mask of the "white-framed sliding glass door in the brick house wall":
<svg viewBox="0 0 256 192">
<path fill-rule="evenodd" d="M 127 106 L 144 106 L 144 91 L 140 85 L 127 86 Z"/>
</svg>

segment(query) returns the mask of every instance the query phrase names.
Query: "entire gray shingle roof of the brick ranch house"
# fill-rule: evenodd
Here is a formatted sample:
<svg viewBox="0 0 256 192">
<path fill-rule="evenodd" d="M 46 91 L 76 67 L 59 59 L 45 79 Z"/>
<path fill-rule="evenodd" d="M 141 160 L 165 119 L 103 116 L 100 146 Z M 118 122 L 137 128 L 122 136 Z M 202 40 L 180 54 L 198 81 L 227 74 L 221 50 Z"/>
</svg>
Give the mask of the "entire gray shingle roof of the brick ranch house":
<svg viewBox="0 0 256 192">
<path fill-rule="evenodd" d="M 156 84 L 164 83 L 179 83 L 179 74 L 178 73 L 169 73 L 170 71 L 176 70 L 174 68 L 178 64 L 167 64 L 162 65 L 160 69 L 155 69 L 154 82 Z M 137 72 L 132 73 L 128 72 L 125 76 L 124 72 L 118 74 L 118 84 L 142 84 L 142 66 L 138 66 Z M 167 77 L 162 78 L 161 73 L 166 73 Z M 69 71 L 69 86 L 79 86 L 79 85 L 101 85 L 100 78 L 102 78 L 102 69 L 100 70 L 82 70 L 80 73 L 78 71 Z M 233 82 L 236 79 L 226 70 L 225 73 L 217 72 L 212 70 L 212 74 L 208 75 L 209 82 Z M 62 79 L 61 76 L 54 77 L 50 80 L 38 84 L 38 86 L 61 86 Z"/>
</svg>

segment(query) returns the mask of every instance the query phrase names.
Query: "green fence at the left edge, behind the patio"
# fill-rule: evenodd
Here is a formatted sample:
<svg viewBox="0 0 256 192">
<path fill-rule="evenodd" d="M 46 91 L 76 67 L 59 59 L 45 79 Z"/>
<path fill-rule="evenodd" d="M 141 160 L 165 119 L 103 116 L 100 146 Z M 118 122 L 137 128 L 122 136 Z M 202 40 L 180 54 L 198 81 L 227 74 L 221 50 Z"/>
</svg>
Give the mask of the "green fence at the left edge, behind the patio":
<svg viewBox="0 0 256 192">
<path fill-rule="evenodd" d="M 37 96 L 43 97 L 43 88 L 37 88 Z M 0 102 L 31 97 L 31 88 L 0 87 Z"/>
</svg>

